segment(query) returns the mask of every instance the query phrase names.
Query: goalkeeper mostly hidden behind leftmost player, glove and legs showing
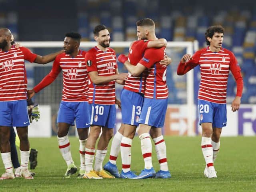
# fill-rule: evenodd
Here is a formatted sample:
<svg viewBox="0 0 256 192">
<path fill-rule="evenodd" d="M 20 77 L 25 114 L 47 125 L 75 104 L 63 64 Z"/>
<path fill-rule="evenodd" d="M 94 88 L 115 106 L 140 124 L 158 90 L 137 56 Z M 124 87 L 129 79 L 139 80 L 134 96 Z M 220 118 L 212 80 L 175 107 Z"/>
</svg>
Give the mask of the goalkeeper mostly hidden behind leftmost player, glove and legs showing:
<svg viewBox="0 0 256 192">
<path fill-rule="evenodd" d="M 33 101 L 30 99 L 28 100 L 28 115 L 30 123 L 32 123 L 33 120 L 38 121 L 40 118 L 40 111 L 38 109 L 38 105 L 34 104 Z M 18 160 L 18 154 L 16 146 L 20 146 L 20 139 L 18 136 L 16 136 L 14 132 L 14 128 L 12 127 L 10 130 L 10 146 L 11 146 L 11 159 L 12 159 L 12 165 L 15 169 L 15 177 L 21 176 L 21 166 L 20 162 Z M 30 149 L 30 155 L 29 155 L 29 162 L 30 162 L 30 169 L 36 168 L 37 165 L 37 150 L 36 149 Z M 30 172 L 32 176 L 35 175 L 34 172 Z"/>
</svg>

